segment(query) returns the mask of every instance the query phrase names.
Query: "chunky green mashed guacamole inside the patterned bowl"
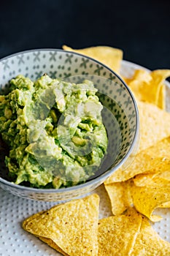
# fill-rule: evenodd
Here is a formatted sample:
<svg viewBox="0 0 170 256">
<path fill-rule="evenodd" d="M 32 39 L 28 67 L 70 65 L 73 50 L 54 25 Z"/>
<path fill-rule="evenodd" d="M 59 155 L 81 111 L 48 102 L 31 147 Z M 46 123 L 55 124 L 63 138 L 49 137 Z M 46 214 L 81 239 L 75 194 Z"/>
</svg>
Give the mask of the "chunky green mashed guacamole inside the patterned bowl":
<svg viewBox="0 0 170 256">
<path fill-rule="evenodd" d="M 108 143 L 96 92 L 89 80 L 10 80 L 8 94 L 0 95 L 0 133 L 12 182 L 61 188 L 96 173 Z"/>
</svg>

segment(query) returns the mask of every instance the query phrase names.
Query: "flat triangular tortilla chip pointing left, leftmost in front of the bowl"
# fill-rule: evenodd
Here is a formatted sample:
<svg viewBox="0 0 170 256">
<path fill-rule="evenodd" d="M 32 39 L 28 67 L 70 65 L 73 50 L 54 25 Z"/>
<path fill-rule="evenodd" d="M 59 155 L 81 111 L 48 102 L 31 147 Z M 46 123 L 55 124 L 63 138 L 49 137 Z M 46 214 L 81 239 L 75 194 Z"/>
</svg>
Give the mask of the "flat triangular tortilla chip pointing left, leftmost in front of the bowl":
<svg viewBox="0 0 170 256">
<path fill-rule="evenodd" d="M 96 194 L 34 214 L 23 229 L 65 255 L 97 255 L 98 204 Z M 47 238 L 47 239 L 45 239 Z M 53 241 L 53 242 L 51 242 Z"/>
</svg>

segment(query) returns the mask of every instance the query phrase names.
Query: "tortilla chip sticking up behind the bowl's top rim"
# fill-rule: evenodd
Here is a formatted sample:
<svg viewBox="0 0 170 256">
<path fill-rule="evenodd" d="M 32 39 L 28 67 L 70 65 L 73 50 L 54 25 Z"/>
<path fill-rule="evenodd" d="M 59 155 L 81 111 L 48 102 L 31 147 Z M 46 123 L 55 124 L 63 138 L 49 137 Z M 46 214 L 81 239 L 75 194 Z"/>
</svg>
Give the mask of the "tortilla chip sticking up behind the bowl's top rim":
<svg viewBox="0 0 170 256">
<path fill-rule="evenodd" d="M 115 72 L 120 71 L 120 64 L 123 59 L 123 51 L 120 49 L 112 48 L 109 46 L 95 46 L 75 50 L 70 48 L 69 46 L 63 45 L 63 50 L 81 53 L 85 56 L 100 61 L 101 63 L 107 65 L 110 69 L 113 69 Z"/>
</svg>

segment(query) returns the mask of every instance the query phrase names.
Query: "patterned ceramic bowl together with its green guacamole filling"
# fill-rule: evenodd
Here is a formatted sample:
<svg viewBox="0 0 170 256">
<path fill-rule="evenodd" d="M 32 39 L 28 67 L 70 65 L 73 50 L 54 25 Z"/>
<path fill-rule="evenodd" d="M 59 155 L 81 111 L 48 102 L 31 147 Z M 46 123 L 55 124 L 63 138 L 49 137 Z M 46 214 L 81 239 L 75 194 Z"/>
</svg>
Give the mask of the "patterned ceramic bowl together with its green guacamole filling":
<svg viewBox="0 0 170 256">
<path fill-rule="evenodd" d="M 0 61 L 0 187 L 66 200 L 98 187 L 133 151 L 136 103 L 115 72 L 64 50 Z"/>
</svg>

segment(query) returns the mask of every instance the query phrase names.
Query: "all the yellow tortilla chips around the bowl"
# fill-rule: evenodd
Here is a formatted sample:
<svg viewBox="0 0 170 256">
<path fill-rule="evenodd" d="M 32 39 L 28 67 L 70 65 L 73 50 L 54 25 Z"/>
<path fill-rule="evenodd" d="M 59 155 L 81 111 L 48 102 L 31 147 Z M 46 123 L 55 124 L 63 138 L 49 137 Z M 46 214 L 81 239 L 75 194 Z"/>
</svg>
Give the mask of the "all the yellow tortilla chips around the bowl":
<svg viewBox="0 0 170 256">
<path fill-rule="evenodd" d="M 119 72 L 123 52 L 109 47 L 72 50 Z M 63 255 L 170 255 L 170 243 L 150 225 L 170 208 L 170 113 L 165 110 L 163 80 L 170 70 L 136 70 L 124 78 L 139 107 L 139 151 L 130 165 L 104 182 L 112 217 L 98 219 L 96 194 L 72 200 L 28 217 L 23 228 Z"/>
</svg>

